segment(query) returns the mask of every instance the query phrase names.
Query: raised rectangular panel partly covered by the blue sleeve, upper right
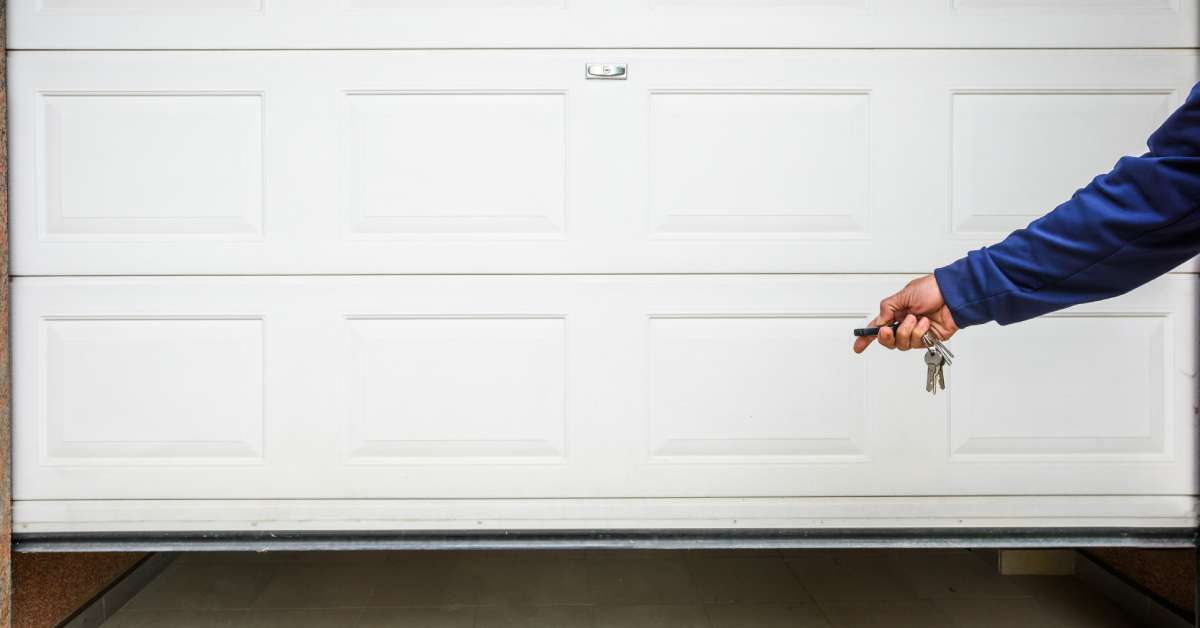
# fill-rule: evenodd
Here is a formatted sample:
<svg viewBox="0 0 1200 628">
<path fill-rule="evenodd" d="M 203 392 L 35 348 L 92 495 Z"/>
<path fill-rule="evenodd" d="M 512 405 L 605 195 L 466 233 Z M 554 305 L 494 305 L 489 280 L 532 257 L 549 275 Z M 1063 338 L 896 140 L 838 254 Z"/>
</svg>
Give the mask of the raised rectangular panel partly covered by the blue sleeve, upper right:
<svg viewBox="0 0 1200 628">
<path fill-rule="evenodd" d="M 1009 232 L 1054 209 L 1122 155 L 1141 155 L 1174 92 L 953 95 L 955 232 Z"/>
</svg>

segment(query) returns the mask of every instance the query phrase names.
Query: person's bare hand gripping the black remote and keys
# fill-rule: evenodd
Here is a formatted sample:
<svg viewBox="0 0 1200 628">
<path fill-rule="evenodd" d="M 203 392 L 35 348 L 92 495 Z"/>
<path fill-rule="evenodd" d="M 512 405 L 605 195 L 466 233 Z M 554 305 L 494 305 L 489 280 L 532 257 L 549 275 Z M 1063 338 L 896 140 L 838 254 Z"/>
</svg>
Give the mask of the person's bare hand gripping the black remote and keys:
<svg viewBox="0 0 1200 628">
<path fill-rule="evenodd" d="M 893 321 L 900 322 L 895 331 L 887 327 Z M 880 301 L 880 316 L 871 321 L 871 327 L 881 328 L 880 345 L 900 351 L 925 348 L 920 336 L 930 329 L 942 340 L 950 340 L 959 330 L 934 275 L 914 279 L 900 292 Z M 866 351 L 874 340 L 875 336 L 854 339 L 854 353 Z"/>
</svg>

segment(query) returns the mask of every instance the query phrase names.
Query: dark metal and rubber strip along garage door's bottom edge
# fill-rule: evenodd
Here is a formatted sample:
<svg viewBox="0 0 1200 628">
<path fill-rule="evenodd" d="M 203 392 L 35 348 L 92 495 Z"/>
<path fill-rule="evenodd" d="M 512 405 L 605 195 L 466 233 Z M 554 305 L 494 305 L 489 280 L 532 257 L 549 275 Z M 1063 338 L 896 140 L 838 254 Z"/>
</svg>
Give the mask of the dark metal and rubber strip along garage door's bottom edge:
<svg viewBox="0 0 1200 628">
<path fill-rule="evenodd" d="M 860 548 L 1157 548 L 1196 546 L 1195 528 L 976 527 L 788 530 L 520 530 L 97 532 L 13 536 L 13 549 L 50 551 L 320 550 L 703 550 Z M 1198 585 L 1200 597 L 1200 585 Z"/>
</svg>

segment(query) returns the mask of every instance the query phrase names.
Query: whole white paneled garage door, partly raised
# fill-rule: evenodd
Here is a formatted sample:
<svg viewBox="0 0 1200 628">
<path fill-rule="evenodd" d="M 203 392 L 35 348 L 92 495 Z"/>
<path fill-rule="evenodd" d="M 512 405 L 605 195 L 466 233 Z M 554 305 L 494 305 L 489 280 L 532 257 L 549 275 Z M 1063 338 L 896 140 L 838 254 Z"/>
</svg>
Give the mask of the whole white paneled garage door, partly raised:
<svg viewBox="0 0 1200 628">
<path fill-rule="evenodd" d="M 1194 265 L 848 347 L 1145 150 L 1194 0 L 11 5 L 20 532 L 1193 525 Z"/>
</svg>

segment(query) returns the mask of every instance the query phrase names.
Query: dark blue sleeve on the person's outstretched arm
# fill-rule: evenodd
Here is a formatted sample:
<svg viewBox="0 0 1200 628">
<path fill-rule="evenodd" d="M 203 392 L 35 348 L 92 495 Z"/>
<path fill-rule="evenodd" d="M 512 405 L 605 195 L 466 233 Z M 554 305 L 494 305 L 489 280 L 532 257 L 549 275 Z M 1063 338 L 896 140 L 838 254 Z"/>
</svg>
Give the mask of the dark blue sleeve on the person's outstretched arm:
<svg viewBox="0 0 1200 628">
<path fill-rule="evenodd" d="M 1000 244 L 937 269 L 955 323 L 1003 325 L 1116 297 L 1200 253 L 1200 84 L 1147 148 Z"/>
</svg>

